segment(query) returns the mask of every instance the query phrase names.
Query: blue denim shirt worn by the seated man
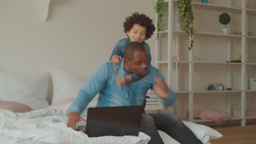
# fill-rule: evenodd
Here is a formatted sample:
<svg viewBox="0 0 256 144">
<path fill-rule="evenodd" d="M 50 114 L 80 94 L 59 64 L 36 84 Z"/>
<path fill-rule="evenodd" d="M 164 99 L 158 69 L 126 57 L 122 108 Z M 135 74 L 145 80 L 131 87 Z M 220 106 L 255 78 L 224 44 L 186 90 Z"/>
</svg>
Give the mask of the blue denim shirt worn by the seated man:
<svg viewBox="0 0 256 144">
<path fill-rule="evenodd" d="M 123 87 L 117 85 L 119 77 L 127 76 L 123 60 L 117 66 L 107 62 L 93 74 L 87 83 L 80 89 L 69 112 L 83 112 L 88 103 L 99 93 L 96 107 L 115 107 L 143 105 L 147 91 L 154 84 L 155 76 L 164 79 L 163 75 L 151 67 L 151 72 L 139 81 L 126 83 Z M 168 99 L 161 99 L 163 105 L 171 106 L 175 101 L 175 94 L 169 90 Z"/>
</svg>

